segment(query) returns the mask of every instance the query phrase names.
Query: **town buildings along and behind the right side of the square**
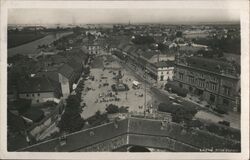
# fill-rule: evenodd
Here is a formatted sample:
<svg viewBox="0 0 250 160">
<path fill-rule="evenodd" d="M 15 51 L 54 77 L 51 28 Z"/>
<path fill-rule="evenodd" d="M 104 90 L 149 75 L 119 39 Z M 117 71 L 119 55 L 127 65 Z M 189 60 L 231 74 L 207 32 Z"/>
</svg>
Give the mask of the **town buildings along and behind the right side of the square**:
<svg viewBox="0 0 250 160">
<path fill-rule="evenodd" d="M 132 28 L 116 26 L 116 28 L 133 32 L 141 30 L 139 26 Z M 154 30 L 154 27 L 146 28 Z M 167 51 L 136 45 L 130 39 L 111 44 L 110 51 L 126 62 L 132 62 L 135 67 L 140 67 L 158 84 L 165 85 L 171 81 L 214 108 L 225 106 L 229 110 L 240 111 L 240 64 L 228 61 L 227 55 L 221 58 L 201 55 L 199 51 L 206 54 L 213 50 L 209 46 L 190 41 L 190 37 L 208 38 L 214 33 L 217 35 L 236 33 L 237 28 L 229 26 L 229 29 L 219 28 L 219 31 L 216 31 L 213 26 L 191 29 L 184 26 L 182 29 L 184 29 L 183 36 L 175 37 L 173 40 L 168 38 L 172 33 L 171 29 L 166 31 L 165 35 L 152 35 L 159 43 L 167 46 Z M 162 36 L 165 38 L 161 38 Z"/>
</svg>

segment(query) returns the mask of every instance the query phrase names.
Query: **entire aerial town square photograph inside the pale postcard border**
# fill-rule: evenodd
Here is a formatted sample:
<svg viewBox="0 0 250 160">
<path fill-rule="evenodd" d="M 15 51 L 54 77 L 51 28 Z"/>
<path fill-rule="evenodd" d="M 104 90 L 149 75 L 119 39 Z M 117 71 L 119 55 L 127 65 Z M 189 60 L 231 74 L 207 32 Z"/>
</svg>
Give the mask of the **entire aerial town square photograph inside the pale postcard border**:
<svg viewBox="0 0 250 160">
<path fill-rule="evenodd" d="M 240 17 L 197 12 L 10 9 L 8 152 L 241 152 Z"/>
</svg>

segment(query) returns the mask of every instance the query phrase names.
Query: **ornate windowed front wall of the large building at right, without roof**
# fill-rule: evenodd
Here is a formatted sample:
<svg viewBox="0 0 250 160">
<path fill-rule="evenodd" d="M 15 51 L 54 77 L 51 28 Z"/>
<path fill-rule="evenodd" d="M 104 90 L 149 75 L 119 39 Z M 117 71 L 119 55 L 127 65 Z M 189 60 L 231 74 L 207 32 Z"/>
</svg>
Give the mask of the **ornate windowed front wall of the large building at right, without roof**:
<svg viewBox="0 0 250 160">
<path fill-rule="evenodd" d="M 183 79 L 180 79 L 180 73 L 183 73 Z M 194 77 L 194 83 L 190 82 L 189 75 Z M 200 85 L 199 79 L 204 79 L 203 87 Z M 182 83 L 183 88 L 188 90 L 192 87 L 193 92 L 190 93 L 195 93 L 195 88 L 202 90 L 203 94 L 200 95 L 200 97 L 211 105 L 223 105 L 223 100 L 227 100 L 229 102 L 227 105 L 229 110 L 236 111 L 240 107 L 236 105 L 235 102 L 235 96 L 239 94 L 238 91 L 240 89 L 240 80 L 237 78 L 230 78 L 209 71 L 198 71 L 190 67 L 177 65 L 175 67 L 174 80 L 178 83 Z M 229 95 L 224 93 L 223 86 L 231 88 Z M 211 94 L 215 96 L 214 102 L 210 101 Z"/>
</svg>

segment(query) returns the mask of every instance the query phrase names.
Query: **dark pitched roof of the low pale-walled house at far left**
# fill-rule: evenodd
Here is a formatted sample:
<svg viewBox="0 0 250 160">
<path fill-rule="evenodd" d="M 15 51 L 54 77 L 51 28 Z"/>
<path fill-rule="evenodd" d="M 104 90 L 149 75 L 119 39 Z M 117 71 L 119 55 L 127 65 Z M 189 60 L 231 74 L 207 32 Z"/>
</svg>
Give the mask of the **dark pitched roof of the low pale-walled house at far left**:
<svg viewBox="0 0 250 160">
<path fill-rule="evenodd" d="M 32 77 L 18 82 L 19 93 L 54 92 L 54 87 L 46 77 Z"/>
</svg>

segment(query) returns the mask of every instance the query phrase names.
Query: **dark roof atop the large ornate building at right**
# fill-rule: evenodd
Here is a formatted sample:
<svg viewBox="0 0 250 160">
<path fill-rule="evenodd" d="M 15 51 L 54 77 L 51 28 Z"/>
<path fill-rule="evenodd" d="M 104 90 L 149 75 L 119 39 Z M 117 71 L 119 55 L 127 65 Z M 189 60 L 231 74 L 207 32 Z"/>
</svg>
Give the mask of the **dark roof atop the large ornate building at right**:
<svg viewBox="0 0 250 160">
<path fill-rule="evenodd" d="M 233 65 L 228 62 L 197 56 L 188 57 L 187 63 L 191 67 L 204 69 L 216 73 L 221 73 L 221 71 L 225 69 L 234 69 Z"/>
</svg>

